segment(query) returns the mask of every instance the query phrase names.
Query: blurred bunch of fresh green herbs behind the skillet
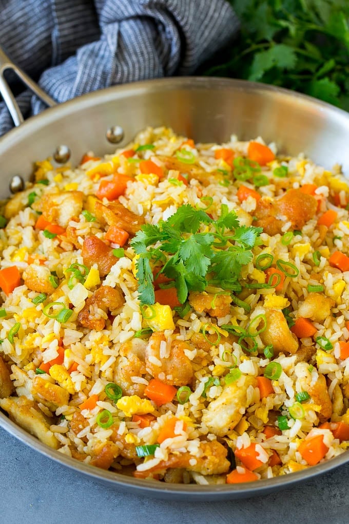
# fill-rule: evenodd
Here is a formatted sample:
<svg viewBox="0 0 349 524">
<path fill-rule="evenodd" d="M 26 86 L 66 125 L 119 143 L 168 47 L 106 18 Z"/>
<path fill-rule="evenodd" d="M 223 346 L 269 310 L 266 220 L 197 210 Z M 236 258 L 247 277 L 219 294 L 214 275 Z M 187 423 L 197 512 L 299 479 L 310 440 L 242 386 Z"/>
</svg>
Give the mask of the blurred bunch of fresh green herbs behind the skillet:
<svg viewBox="0 0 349 524">
<path fill-rule="evenodd" d="M 283 86 L 349 111 L 348 0 L 230 3 L 240 35 L 205 74 Z"/>
</svg>

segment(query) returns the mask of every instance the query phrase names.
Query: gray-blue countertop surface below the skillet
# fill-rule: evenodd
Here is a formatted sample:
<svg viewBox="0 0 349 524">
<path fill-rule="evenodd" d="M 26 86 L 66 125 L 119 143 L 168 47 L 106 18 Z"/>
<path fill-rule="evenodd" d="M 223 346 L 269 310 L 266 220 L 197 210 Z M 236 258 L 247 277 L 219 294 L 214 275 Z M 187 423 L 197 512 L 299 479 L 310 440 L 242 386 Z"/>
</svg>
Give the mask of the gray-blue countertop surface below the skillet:
<svg viewBox="0 0 349 524">
<path fill-rule="evenodd" d="M 97 484 L 0 428 L 0 522 L 6 524 L 346 524 L 349 464 L 266 496 L 193 503 L 154 500 Z"/>
</svg>

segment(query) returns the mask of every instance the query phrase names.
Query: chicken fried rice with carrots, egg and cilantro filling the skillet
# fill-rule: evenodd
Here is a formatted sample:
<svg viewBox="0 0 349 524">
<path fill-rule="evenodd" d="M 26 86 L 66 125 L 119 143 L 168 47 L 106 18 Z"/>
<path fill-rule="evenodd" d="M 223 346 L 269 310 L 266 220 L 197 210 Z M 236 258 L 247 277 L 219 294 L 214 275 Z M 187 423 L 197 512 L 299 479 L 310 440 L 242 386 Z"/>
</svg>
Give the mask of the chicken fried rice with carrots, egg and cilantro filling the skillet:
<svg viewBox="0 0 349 524">
<path fill-rule="evenodd" d="M 0 217 L 10 419 L 76 460 L 159 482 L 257 481 L 346 451 L 340 166 L 162 127 L 76 168 L 38 161 L 33 180 Z M 175 236 L 182 255 L 166 247 Z"/>
</svg>

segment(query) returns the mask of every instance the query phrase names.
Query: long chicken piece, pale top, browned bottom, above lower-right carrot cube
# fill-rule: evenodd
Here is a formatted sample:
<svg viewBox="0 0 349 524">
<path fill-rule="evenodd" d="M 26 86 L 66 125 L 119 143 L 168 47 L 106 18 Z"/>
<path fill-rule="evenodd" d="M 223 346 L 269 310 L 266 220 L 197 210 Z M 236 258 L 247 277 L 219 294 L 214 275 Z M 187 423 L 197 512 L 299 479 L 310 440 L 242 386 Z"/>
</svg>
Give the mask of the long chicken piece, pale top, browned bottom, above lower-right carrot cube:
<svg viewBox="0 0 349 524">
<path fill-rule="evenodd" d="M 309 366 L 305 362 L 295 366 L 295 374 L 301 390 L 307 391 L 312 401 L 321 406 L 318 414 L 320 422 L 328 420 L 332 415 L 333 407 L 324 375 L 320 373 L 317 380 L 313 380 Z"/>
</svg>

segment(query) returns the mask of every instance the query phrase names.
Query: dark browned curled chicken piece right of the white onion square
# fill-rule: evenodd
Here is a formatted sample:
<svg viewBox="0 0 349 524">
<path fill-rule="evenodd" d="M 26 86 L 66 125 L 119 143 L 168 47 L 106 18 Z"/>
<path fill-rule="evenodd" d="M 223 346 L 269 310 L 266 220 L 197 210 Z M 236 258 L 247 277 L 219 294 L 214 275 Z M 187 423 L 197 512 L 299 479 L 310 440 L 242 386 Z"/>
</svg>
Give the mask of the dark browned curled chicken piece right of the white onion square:
<svg viewBox="0 0 349 524">
<path fill-rule="evenodd" d="M 115 311 L 125 303 L 125 297 L 120 288 L 111 288 L 110 286 L 100 286 L 89 297 L 83 309 L 77 315 L 77 320 L 84 328 L 95 329 L 100 331 L 104 329 L 105 319 L 100 316 L 98 309 Z"/>
</svg>

